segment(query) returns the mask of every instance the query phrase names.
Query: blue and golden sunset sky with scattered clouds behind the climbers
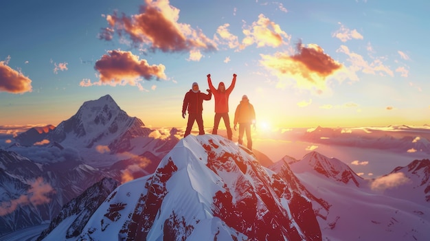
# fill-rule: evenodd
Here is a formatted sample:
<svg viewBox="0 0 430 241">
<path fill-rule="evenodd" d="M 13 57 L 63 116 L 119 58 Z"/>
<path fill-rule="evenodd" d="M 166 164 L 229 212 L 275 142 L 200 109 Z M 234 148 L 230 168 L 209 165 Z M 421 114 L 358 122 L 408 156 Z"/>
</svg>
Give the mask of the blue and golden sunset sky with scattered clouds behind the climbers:
<svg viewBox="0 0 430 241">
<path fill-rule="evenodd" d="M 52 124 L 109 94 L 146 126 L 183 127 L 207 74 L 258 126 L 430 124 L 429 1 L 0 2 L 0 125 Z M 203 103 L 213 125 L 214 99 Z M 223 124 L 220 124 L 223 127 Z"/>
</svg>

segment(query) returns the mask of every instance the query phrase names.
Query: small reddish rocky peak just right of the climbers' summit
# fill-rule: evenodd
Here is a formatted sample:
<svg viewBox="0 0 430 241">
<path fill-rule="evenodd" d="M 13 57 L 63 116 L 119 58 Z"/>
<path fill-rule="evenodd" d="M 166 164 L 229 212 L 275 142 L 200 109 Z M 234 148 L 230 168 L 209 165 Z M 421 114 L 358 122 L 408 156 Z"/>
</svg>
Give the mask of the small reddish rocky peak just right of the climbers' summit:
<svg viewBox="0 0 430 241">
<path fill-rule="evenodd" d="M 302 160 L 291 163 L 291 169 L 297 173 L 316 171 L 342 183 L 348 184 L 351 181 L 357 187 L 363 184 L 363 179 L 352 171 L 346 163 L 339 159 L 328 158 L 315 151 L 306 154 Z"/>
</svg>

